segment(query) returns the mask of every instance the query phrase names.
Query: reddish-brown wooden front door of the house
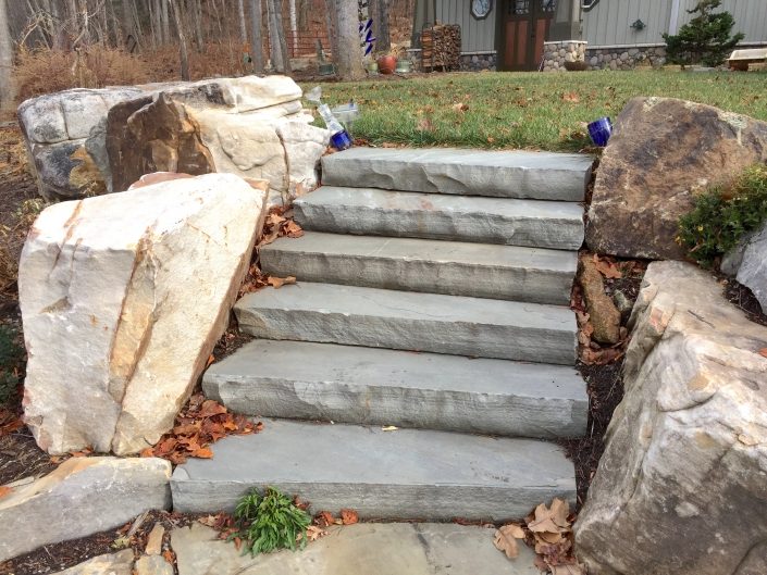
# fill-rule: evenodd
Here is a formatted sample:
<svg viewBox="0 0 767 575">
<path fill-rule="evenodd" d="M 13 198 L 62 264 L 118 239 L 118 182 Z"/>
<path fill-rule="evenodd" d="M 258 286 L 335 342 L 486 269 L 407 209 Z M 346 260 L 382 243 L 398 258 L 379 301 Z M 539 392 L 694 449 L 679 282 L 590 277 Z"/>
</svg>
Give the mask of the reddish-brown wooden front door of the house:
<svg viewBox="0 0 767 575">
<path fill-rule="evenodd" d="M 500 5 L 502 68 L 539 70 L 557 0 L 504 0 Z"/>
</svg>

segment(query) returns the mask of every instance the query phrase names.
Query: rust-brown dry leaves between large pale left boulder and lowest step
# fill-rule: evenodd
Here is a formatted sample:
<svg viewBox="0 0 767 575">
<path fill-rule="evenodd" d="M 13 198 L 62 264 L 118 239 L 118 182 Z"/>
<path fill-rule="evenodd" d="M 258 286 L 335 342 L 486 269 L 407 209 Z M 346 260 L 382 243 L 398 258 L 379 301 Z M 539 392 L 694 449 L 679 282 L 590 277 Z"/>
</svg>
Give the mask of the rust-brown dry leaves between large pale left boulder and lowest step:
<svg viewBox="0 0 767 575">
<path fill-rule="evenodd" d="M 210 459 L 208 447 L 227 435 L 247 435 L 263 429 L 261 422 L 230 413 L 222 404 L 206 399 L 201 393 L 191 396 L 176 416 L 173 429 L 163 435 L 154 446 L 141 451 L 145 458 L 163 458 L 178 465 L 188 458 Z"/>
</svg>

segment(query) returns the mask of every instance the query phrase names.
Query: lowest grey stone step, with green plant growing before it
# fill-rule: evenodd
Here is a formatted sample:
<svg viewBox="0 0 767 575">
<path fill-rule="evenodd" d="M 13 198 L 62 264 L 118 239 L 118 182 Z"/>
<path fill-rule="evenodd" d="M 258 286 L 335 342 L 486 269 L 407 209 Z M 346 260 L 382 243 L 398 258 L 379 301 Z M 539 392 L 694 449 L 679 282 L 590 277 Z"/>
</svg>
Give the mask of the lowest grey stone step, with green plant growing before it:
<svg viewBox="0 0 767 575">
<path fill-rule="evenodd" d="M 212 450 L 173 473 L 176 511 L 232 511 L 264 486 L 311 502 L 311 512 L 349 508 L 362 518 L 499 522 L 554 497 L 576 499 L 572 463 L 533 439 L 267 420 L 261 433 Z"/>
</svg>

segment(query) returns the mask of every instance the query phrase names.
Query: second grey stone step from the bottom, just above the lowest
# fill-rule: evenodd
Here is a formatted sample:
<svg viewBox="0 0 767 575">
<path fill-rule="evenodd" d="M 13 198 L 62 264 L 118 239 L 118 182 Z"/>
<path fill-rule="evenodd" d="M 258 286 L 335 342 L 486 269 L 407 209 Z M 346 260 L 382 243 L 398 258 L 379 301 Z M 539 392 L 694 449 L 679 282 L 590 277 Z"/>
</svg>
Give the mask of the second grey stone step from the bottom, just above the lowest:
<svg viewBox="0 0 767 575">
<path fill-rule="evenodd" d="M 584 435 L 589 412 L 572 367 L 300 341 L 251 341 L 202 389 L 247 415 L 544 439 Z"/>
</svg>

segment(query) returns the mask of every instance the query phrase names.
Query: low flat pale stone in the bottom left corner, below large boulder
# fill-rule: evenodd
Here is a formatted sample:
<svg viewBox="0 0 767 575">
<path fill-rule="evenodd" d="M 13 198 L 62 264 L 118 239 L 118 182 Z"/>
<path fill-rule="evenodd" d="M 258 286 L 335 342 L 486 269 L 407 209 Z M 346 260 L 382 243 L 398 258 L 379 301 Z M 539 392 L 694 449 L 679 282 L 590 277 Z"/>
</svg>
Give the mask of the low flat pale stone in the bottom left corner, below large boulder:
<svg viewBox="0 0 767 575">
<path fill-rule="evenodd" d="M 72 458 L 45 477 L 11 484 L 0 499 L 0 561 L 170 509 L 170 462 L 158 458 Z"/>
</svg>

